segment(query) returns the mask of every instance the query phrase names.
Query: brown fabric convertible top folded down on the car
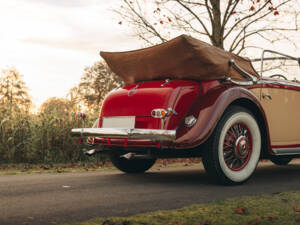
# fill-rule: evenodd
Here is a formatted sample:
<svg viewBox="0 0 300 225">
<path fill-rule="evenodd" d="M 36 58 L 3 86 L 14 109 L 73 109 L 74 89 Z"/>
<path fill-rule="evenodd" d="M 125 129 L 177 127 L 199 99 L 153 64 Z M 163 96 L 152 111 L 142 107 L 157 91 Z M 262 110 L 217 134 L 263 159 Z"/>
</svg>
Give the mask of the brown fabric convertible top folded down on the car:
<svg viewBox="0 0 300 225">
<path fill-rule="evenodd" d="M 128 52 L 100 52 L 111 70 L 125 84 L 158 79 L 245 80 L 230 65 L 234 59 L 245 72 L 259 77 L 248 59 L 187 35 L 165 43 Z"/>
</svg>

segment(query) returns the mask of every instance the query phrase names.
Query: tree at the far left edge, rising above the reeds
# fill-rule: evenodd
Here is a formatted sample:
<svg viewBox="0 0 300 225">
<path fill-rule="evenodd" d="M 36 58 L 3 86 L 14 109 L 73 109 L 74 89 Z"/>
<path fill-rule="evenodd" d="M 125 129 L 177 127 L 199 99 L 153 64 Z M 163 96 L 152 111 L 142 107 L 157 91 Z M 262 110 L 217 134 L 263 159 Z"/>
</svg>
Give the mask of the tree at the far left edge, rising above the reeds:
<svg viewBox="0 0 300 225">
<path fill-rule="evenodd" d="M 13 112 L 28 112 L 32 106 L 28 88 L 22 75 L 14 67 L 2 70 L 0 75 L 0 107 Z"/>
</svg>

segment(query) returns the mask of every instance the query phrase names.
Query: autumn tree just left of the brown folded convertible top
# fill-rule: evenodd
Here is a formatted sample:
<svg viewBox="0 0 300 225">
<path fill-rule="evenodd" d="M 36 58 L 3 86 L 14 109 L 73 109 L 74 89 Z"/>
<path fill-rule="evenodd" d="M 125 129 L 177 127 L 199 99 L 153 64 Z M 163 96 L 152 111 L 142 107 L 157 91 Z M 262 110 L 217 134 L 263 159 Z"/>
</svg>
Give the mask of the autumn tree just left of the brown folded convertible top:
<svg viewBox="0 0 300 225">
<path fill-rule="evenodd" d="M 89 111 L 98 113 L 105 95 L 122 84 L 105 62 L 98 61 L 84 69 L 80 83 L 70 90 L 69 96 L 71 101 L 83 103 Z"/>
</svg>

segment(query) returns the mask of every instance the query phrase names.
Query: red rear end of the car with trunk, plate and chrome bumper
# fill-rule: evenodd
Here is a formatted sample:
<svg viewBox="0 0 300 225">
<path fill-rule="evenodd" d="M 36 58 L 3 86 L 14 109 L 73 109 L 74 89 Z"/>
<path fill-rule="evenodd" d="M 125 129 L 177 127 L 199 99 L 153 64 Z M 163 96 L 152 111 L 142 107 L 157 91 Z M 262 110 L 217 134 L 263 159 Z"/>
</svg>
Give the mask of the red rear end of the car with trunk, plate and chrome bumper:
<svg viewBox="0 0 300 225">
<path fill-rule="evenodd" d="M 93 148 L 172 148 L 180 124 L 201 94 L 201 82 L 157 80 L 111 91 L 93 128 L 75 128 Z M 91 138 L 92 137 L 92 138 Z"/>
</svg>

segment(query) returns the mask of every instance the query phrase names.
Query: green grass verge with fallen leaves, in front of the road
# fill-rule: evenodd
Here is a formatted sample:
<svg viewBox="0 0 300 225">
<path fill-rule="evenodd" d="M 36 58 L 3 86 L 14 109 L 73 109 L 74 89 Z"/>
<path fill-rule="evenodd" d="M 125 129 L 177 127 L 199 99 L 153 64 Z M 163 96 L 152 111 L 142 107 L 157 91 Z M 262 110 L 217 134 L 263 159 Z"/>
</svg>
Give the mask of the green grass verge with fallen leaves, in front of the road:
<svg viewBox="0 0 300 225">
<path fill-rule="evenodd" d="M 299 212 L 298 212 L 299 211 Z M 246 196 L 131 217 L 96 218 L 64 225 L 288 225 L 300 224 L 300 191 Z"/>
</svg>

